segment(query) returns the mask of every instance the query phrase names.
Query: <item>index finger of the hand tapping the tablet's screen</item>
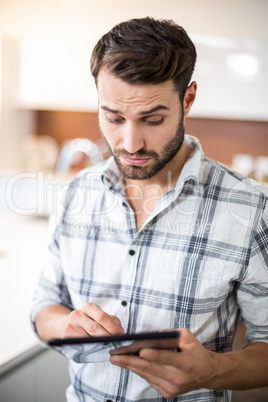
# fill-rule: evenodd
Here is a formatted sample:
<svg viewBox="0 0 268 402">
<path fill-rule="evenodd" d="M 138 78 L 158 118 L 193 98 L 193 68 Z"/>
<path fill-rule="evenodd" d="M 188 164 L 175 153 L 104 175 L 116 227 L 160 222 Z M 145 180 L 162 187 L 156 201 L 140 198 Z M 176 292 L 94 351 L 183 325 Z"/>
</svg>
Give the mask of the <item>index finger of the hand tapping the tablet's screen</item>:
<svg viewBox="0 0 268 402">
<path fill-rule="evenodd" d="M 98 334 L 99 335 L 110 335 L 110 334 L 120 334 L 124 333 L 124 330 L 121 326 L 121 322 L 119 318 L 115 316 L 111 316 L 107 314 L 105 311 L 103 311 L 99 306 L 97 306 L 94 303 L 87 303 L 85 306 L 83 306 L 82 311 L 93 321 L 95 321 L 97 324 L 99 324 L 100 327 L 103 328 L 104 331 L 101 331 L 99 333 L 100 328 L 98 328 Z M 93 324 L 90 324 L 90 327 Z M 94 325 L 93 325 L 94 327 Z M 97 335 L 97 333 L 94 335 Z"/>
</svg>

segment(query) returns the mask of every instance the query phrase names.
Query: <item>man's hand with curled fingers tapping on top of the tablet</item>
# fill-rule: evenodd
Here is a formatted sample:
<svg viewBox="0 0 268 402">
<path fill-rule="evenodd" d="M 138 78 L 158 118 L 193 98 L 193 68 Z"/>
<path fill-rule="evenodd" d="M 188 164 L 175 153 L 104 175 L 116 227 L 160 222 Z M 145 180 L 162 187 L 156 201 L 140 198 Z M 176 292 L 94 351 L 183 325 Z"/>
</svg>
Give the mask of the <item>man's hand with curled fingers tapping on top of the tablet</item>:
<svg viewBox="0 0 268 402">
<path fill-rule="evenodd" d="M 87 303 L 80 310 L 74 310 L 69 314 L 61 337 L 106 336 L 123 333 L 119 318 L 105 313 L 96 304 Z"/>
</svg>

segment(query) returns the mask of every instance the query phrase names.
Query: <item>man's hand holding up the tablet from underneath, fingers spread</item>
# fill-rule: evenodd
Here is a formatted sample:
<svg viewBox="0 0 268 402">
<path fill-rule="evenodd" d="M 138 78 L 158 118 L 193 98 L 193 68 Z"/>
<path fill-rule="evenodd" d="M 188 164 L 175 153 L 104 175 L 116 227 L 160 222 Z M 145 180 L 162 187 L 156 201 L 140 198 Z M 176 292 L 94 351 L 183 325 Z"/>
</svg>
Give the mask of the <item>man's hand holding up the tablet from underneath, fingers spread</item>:
<svg viewBox="0 0 268 402">
<path fill-rule="evenodd" d="M 120 348 L 111 352 L 110 362 L 138 374 L 166 399 L 208 387 L 216 371 L 215 353 L 205 349 L 187 329 L 180 329 L 180 334 L 178 340 L 169 340 L 168 349 L 143 348 L 137 357 L 118 354 L 122 353 Z M 124 352 L 131 353 L 127 348 Z"/>
</svg>

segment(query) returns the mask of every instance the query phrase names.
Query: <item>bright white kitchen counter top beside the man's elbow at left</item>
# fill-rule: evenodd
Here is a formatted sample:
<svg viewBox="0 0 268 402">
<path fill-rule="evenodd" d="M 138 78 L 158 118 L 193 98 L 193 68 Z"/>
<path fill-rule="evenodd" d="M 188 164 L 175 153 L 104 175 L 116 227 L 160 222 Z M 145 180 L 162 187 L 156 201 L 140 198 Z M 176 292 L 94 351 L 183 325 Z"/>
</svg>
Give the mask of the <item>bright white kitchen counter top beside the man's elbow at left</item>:
<svg viewBox="0 0 268 402">
<path fill-rule="evenodd" d="M 48 219 L 0 213 L 0 366 L 38 343 L 29 317 L 47 238 Z"/>
</svg>

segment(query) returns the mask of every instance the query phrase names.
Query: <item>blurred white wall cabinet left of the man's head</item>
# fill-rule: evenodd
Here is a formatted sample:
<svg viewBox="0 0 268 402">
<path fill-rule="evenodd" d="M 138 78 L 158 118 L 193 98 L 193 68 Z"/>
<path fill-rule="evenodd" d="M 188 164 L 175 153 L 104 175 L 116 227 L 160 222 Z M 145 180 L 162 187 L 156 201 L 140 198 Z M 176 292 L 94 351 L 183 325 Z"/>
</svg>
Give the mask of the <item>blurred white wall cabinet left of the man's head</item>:
<svg viewBox="0 0 268 402">
<path fill-rule="evenodd" d="M 91 51 L 88 42 L 76 37 L 21 40 L 18 105 L 36 110 L 97 110 Z"/>
</svg>

